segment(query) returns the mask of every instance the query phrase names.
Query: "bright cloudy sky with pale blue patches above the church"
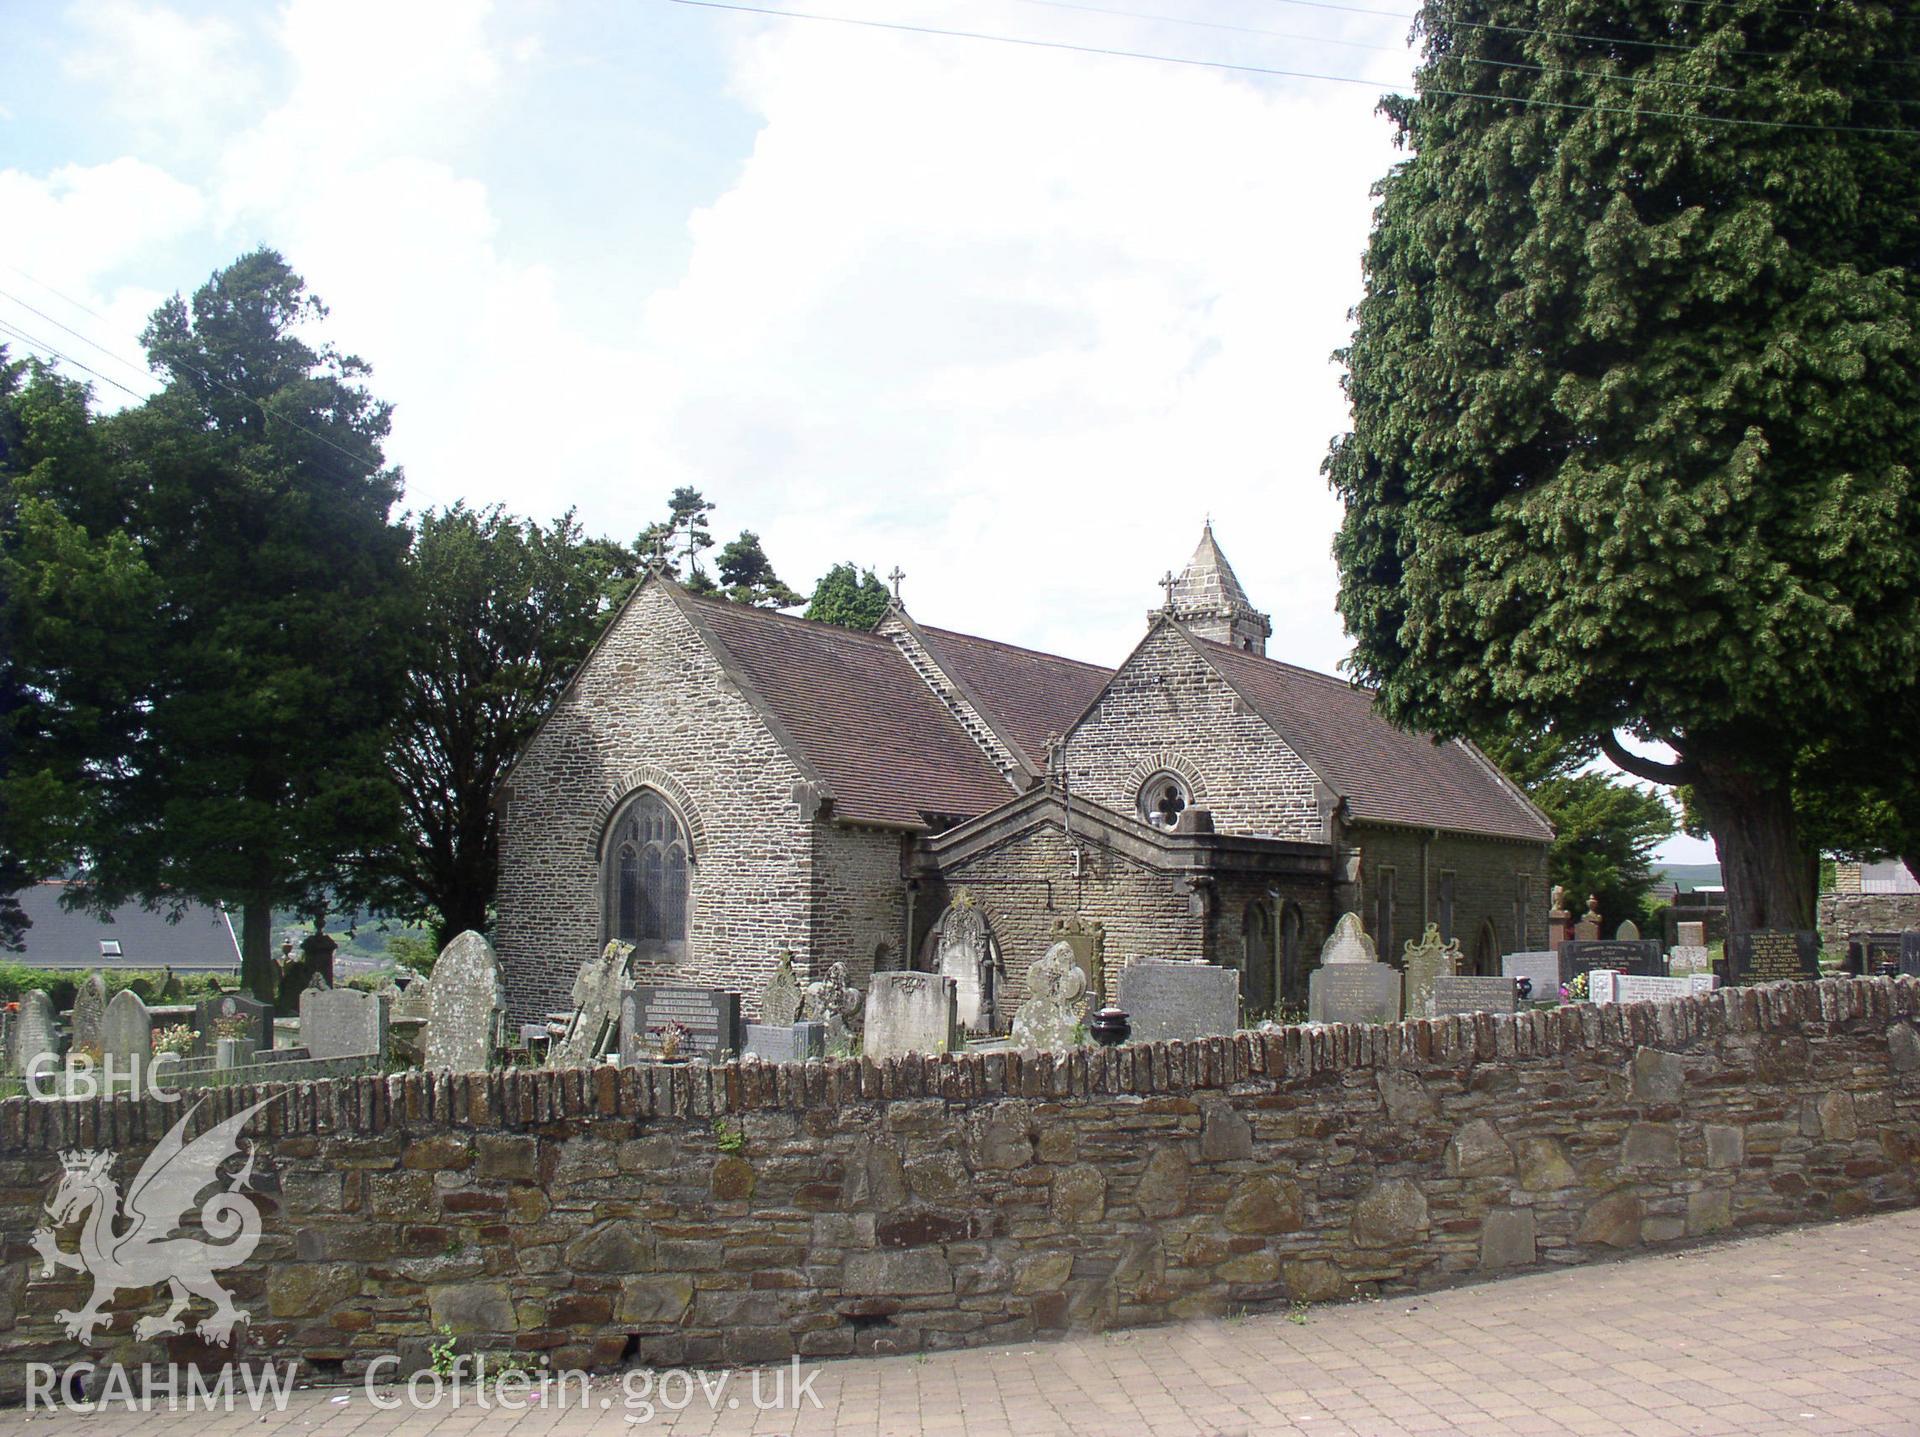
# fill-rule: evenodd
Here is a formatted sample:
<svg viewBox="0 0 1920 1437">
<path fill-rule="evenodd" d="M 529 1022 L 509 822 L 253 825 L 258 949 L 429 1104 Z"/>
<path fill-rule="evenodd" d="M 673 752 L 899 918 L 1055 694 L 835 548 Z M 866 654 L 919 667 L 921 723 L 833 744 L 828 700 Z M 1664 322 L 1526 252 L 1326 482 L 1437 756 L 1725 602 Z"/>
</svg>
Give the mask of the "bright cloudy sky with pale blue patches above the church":
<svg viewBox="0 0 1920 1437">
<path fill-rule="evenodd" d="M 127 403 L 154 305 L 267 244 L 415 511 L 632 538 L 691 484 L 801 592 L 899 565 L 924 622 L 1100 663 L 1212 517 L 1269 651 L 1334 669 L 1409 0 L 764 8 L 12 0 L 0 342 Z"/>
</svg>

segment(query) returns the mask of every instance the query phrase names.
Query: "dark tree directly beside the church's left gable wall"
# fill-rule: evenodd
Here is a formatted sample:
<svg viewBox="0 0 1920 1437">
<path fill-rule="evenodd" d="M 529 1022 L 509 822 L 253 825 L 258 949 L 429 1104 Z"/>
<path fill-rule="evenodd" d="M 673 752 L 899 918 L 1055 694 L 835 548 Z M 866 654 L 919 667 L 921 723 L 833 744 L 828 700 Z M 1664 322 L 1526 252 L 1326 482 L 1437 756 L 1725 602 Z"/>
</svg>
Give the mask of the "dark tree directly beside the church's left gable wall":
<svg viewBox="0 0 1920 1437">
<path fill-rule="evenodd" d="M 486 930 L 499 880 L 499 782 L 593 647 L 637 565 L 551 524 L 453 505 L 419 521 L 413 634 L 388 767 L 403 815 L 369 857 L 369 897 L 420 914 L 438 945 Z M 438 949 L 436 949 L 438 951 Z"/>
</svg>

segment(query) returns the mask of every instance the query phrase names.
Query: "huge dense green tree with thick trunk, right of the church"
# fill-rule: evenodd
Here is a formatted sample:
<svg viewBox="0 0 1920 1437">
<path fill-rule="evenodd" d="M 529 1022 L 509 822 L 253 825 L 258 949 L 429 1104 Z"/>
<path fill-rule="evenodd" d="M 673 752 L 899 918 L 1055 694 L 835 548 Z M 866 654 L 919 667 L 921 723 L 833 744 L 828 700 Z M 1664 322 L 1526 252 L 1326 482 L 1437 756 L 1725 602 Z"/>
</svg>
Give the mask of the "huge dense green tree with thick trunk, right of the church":
<svg viewBox="0 0 1920 1437">
<path fill-rule="evenodd" d="M 1327 465 L 1354 665 L 1402 722 L 1688 784 L 1734 926 L 1811 928 L 1801 755 L 1920 672 L 1920 12 L 1471 13 L 1421 10 L 1384 106 Z"/>
</svg>

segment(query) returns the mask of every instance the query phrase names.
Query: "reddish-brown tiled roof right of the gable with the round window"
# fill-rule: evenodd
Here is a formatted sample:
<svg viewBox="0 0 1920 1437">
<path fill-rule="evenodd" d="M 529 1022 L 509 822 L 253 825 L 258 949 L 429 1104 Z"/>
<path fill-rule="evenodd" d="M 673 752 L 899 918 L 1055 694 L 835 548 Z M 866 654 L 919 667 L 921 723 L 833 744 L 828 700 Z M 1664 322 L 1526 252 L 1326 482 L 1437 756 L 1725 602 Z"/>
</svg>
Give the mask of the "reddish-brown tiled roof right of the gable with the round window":
<svg viewBox="0 0 1920 1437">
<path fill-rule="evenodd" d="M 1194 638 L 1356 818 L 1546 841 L 1553 828 L 1467 743 L 1394 728 L 1373 690 Z"/>
</svg>

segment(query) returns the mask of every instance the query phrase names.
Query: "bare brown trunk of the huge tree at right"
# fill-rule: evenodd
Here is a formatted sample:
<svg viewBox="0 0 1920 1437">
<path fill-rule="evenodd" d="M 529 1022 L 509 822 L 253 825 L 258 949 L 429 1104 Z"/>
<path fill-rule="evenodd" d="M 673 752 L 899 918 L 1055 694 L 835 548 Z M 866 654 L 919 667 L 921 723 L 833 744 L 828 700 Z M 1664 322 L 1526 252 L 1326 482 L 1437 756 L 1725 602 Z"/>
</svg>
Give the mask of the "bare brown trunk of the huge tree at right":
<svg viewBox="0 0 1920 1437">
<path fill-rule="evenodd" d="M 1692 753 L 1699 805 L 1726 884 L 1728 930 L 1814 928 L 1818 866 L 1793 816 L 1793 790 L 1720 757 Z"/>
</svg>

